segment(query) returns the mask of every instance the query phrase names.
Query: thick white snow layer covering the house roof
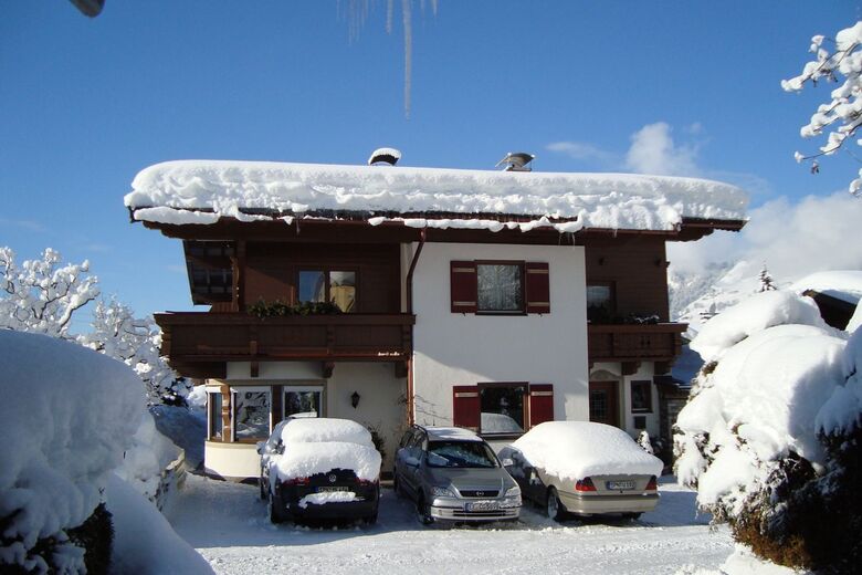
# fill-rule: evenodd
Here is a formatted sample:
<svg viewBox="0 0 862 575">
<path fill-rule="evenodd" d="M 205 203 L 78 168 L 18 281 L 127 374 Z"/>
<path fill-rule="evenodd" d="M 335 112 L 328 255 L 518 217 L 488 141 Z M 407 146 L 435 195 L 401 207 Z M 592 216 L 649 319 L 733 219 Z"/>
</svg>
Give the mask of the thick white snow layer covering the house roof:
<svg viewBox="0 0 862 575">
<path fill-rule="evenodd" d="M 223 160 L 157 164 L 141 170 L 132 188 L 125 203 L 135 210 L 135 219 L 197 224 L 213 223 L 220 216 L 261 219 L 262 210 L 298 216 L 338 210 L 385 213 L 371 223 L 403 221 L 392 213 L 533 218 L 404 221 L 414 227 L 435 221 L 435 227 L 492 231 L 504 226 L 553 226 L 563 232 L 585 227 L 672 230 L 683 217 L 744 219 L 748 202 L 734 186 L 694 178 Z M 548 221 L 555 218 L 577 221 Z"/>
</svg>

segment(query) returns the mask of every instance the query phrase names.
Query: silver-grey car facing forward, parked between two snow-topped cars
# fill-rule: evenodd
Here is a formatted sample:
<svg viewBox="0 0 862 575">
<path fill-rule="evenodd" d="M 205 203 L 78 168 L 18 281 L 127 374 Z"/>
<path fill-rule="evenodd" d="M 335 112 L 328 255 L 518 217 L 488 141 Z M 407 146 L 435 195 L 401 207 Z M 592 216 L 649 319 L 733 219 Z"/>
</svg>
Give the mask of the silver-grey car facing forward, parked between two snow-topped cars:
<svg viewBox="0 0 862 575">
<path fill-rule="evenodd" d="M 517 521 L 521 488 L 482 438 L 453 427 L 413 426 L 395 463 L 396 493 L 416 502 L 419 521 Z"/>
</svg>

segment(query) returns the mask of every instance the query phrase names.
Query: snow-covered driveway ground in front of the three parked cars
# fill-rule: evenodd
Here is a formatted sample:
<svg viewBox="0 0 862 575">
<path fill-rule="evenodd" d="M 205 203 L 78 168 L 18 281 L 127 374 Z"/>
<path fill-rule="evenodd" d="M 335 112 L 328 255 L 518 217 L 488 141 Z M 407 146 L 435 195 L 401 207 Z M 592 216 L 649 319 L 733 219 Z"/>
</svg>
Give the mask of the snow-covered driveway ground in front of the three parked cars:
<svg viewBox="0 0 862 575">
<path fill-rule="evenodd" d="M 660 487 L 659 508 L 640 521 L 564 525 L 525 509 L 522 522 L 496 527 L 420 526 L 412 506 L 383 491 L 371 527 L 274 526 L 257 488 L 189 475 L 168 516 L 217 573 L 694 573 L 732 553 L 726 529 L 695 518 L 694 493 Z"/>
</svg>

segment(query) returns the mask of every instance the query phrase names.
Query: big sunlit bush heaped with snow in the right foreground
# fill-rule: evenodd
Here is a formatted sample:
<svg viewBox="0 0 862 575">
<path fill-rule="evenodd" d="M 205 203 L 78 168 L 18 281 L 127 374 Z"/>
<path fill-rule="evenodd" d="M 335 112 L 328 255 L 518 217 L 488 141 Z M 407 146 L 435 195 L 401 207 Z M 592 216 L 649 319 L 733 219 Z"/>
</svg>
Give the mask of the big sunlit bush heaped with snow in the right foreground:
<svg viewBox="0 0 862 575">
<path fill-rule="evenodd" d="M 859 561 L 862 333 L 848 338 L 810 299 L 769 291 L 691 343 L 706 364 L 676 421 L 677 479 L 779 564 Z"/>
</svg>

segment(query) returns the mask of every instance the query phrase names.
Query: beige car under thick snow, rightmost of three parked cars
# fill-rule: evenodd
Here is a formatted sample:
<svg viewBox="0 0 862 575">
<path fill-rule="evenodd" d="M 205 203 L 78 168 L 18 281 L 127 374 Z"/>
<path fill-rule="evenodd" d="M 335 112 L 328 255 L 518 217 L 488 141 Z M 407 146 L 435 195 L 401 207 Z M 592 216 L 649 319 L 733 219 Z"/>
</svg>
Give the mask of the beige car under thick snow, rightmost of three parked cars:
<svg viewBox="0 0 862 575">
<path fill-rule="evenodd" d="M 622 513 L 638 518 L 659 503 L 662 461 L 626 431 L 589 421 L 546 421 L 500 451 L 524 499 L 549 518 Z"/>
</svg>

